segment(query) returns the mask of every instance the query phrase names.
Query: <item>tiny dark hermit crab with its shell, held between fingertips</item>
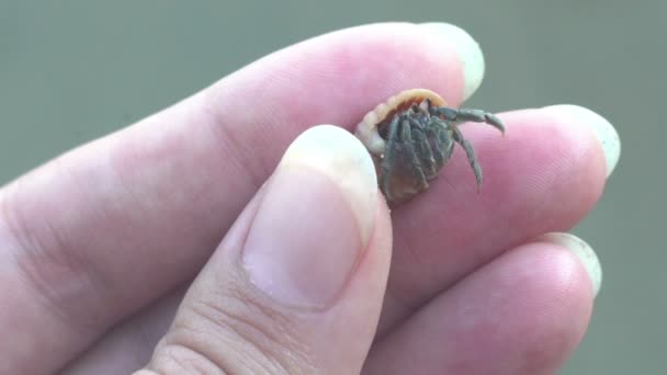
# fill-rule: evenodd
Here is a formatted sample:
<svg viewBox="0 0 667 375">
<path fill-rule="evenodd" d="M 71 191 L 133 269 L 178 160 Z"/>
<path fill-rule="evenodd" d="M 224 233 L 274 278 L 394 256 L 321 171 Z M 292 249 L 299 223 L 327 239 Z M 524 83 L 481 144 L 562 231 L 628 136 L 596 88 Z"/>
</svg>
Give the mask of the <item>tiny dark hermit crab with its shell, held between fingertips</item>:
<svg viewBox="0 0 667 375">
<path fill-rule="evenodd" d="M 505 133 L 495 115 L 448 107 L 440 95 L 426 89 L 402 91 L 363 117 L 355 135 L 373 156 L 387 202 L 402 203 L 428 189 L 452 156 L 454 143 L 465 150 L 479 188 L 482 168 L 457 126 L 466 121 L 487 123 Z"/>
</svg>

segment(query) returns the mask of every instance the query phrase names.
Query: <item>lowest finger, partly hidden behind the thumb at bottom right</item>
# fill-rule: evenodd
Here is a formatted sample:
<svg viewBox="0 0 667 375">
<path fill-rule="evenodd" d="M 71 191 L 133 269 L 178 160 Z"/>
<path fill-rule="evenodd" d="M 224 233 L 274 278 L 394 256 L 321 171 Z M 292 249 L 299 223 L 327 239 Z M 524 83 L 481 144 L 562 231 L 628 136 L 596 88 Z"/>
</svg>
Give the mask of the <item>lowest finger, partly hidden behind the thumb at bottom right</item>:
<svg viewBox="0 0 667 375">
<path fill-rule="evenodd" d="M 600 279 L 587 270 L 600 274 L 595 252 L 574 236 L 520 246 L 374 345 L 364 373 L 554 374 L 591 315 Z"/>
</svg>

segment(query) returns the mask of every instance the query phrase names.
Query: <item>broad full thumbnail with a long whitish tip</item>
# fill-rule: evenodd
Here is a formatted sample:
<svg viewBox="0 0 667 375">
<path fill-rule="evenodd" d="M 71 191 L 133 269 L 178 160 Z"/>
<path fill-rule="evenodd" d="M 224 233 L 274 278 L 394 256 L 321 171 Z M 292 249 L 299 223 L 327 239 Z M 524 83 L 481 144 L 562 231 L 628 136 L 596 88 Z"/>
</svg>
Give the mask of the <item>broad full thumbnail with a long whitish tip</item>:
<svg viewBox="0 0 667 375">
<path fill-rule="evenodd" d="M 342 291 L 375 226 L 373 161 L 349 132 L 320 125 L 290 146 L 267 185 L 242 263 L 279 303 L 324 308 Z"/>
</svg>

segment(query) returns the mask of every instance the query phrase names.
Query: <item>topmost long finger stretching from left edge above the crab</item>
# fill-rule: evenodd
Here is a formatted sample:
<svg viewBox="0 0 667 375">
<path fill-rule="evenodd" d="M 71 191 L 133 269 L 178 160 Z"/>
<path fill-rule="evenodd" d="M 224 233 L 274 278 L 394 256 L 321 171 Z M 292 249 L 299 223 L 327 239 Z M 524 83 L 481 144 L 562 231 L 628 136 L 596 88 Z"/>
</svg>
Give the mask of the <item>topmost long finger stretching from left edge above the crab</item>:
<svg viewBox="0 0 667 375">
<path fill-rule="evenodd" d="M 443 27 L 377 24 L 295 45 L 0 191 L 0 306 L 16 307 L 0 330 L 22 338 L 0 344 L 8 368 L 53 371 L 192 277 L 303 129 L 351 128 L 412 87 L 461 102 L 481 53 Z"/>
</svg>

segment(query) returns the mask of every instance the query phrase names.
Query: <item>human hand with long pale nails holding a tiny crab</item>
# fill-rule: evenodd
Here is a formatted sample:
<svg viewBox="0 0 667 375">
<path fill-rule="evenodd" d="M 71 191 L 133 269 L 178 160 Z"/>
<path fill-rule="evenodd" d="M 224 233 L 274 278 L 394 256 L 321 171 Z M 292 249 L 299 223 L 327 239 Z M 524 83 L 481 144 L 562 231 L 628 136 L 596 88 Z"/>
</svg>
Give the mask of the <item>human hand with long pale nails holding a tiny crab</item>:
<svg viewBox="0 0 667 375">
<path fill-rule="evenodd" d="M 505 138 L 465 125 L 481 193 L 457 149 L 392 220 L 361 144 L 310 128 L 352 130 L 409 88 L 456 106 L 483 70 L 452 26 L 344 30 L 9 184 L 0 373 L 554 372 L 600 269 L 543 235 L 593 207 L 611 125 L 576 106 L 500 114 Z"/>
</svg>

